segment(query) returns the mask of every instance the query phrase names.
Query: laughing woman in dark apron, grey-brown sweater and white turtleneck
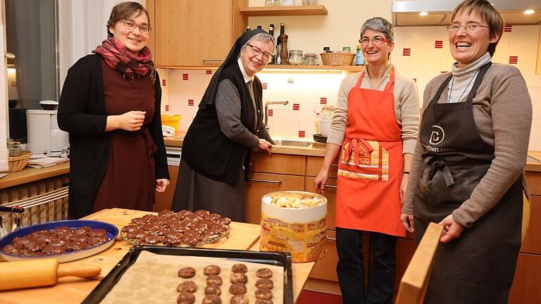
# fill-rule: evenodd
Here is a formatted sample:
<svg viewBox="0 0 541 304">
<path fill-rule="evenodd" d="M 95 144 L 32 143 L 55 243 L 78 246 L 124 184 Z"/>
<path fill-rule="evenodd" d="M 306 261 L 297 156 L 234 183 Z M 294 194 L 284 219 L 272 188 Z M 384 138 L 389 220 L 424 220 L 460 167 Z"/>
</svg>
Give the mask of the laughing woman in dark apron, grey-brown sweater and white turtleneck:
<svg viewBox="0 0 541 304">
<path fill-rule="evenodd" d="M 507 303 L 521 246 L 531 101 L 516 68 L 492 63 L 503 31 L 495 8 L 466 0 L 451 20 L 456 63 L 425 89 L 401 220 L 416 243 L 429 222 L 444 226 L 425 303 Z"/>
</svg>

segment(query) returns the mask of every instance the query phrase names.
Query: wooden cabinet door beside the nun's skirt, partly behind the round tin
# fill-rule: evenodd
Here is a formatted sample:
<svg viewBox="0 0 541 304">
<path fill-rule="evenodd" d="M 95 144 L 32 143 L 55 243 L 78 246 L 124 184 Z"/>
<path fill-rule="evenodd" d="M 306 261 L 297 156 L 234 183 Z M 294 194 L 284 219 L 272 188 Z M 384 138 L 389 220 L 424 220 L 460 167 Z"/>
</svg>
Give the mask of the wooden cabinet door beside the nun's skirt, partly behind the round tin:
<svg viewBox="0 0 541 304">
<path fill-rule="evenodd" d="M 275 191 L 304 191 L 304 176 L 251 172 L 246 182 L 246 222 L 261 224 L 261 198 Z"/>
</svg>

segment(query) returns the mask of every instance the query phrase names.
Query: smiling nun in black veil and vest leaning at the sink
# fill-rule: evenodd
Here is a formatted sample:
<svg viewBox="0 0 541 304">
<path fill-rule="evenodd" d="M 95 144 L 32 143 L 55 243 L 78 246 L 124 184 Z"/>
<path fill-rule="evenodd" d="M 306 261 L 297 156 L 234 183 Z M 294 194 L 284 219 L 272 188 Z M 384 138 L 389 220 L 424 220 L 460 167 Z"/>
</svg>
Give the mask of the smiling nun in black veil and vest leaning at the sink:
<svg viewBox="0 0 541 304">
<path fill-rule="evenodd" d="M 244 221 L 251 148 L 270 153 L 256 73 L 275 49 L 263 30 L 245 32 L 214 73 L 182 144 L 173 210 L 209 210 Z"/>
</svg>

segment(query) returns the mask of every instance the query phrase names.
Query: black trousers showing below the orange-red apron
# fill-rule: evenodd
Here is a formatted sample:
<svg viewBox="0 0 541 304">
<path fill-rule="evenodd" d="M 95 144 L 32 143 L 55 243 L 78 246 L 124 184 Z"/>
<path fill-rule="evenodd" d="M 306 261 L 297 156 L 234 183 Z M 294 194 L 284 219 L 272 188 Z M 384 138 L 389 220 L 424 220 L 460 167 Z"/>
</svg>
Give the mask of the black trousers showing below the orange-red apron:
<svg viewBox="0 0 541 304">
<path fill-rule="evenodd" d="M 397 236 L 371 232 L 372 262 L 368 270 L 368 288 L 365 288 L 362 233 L 360 230 L 336 227 L 336 272 L 342 303 L 392 303 L 394 277 L 397 274 Z"/>
</svg>

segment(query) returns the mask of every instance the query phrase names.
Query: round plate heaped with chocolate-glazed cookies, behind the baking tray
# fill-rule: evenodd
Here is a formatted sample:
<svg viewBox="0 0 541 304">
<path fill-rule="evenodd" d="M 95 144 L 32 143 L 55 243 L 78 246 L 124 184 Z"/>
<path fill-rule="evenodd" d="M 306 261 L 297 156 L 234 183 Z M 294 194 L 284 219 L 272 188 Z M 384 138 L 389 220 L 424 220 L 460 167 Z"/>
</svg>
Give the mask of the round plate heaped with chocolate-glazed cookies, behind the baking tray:
<svg viewBox="0 0 541 304">
<path fill-rule="evenodd" d="M 163 210 L 131 220 L 120 235 L 134 245 L 189 247 L 229 237 L 230 218 L 207 210 Z"/>
</svg>

